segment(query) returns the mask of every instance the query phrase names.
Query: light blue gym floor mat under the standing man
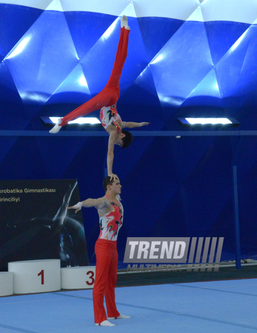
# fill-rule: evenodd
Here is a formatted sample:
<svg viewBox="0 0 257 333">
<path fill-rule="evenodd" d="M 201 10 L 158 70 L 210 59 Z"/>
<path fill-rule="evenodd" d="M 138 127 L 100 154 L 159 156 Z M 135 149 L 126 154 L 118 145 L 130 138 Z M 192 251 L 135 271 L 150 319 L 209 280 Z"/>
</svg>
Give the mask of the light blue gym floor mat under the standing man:
<svg viewBox="0 0 257 333">
<path fill-rule="evenodd" d="M 92 290 L 0 298 L 1 333 L 182 332 L 257 330 L 257 279 L 116 289 L 115 327 L 94 323 Z"/>
</svg>

